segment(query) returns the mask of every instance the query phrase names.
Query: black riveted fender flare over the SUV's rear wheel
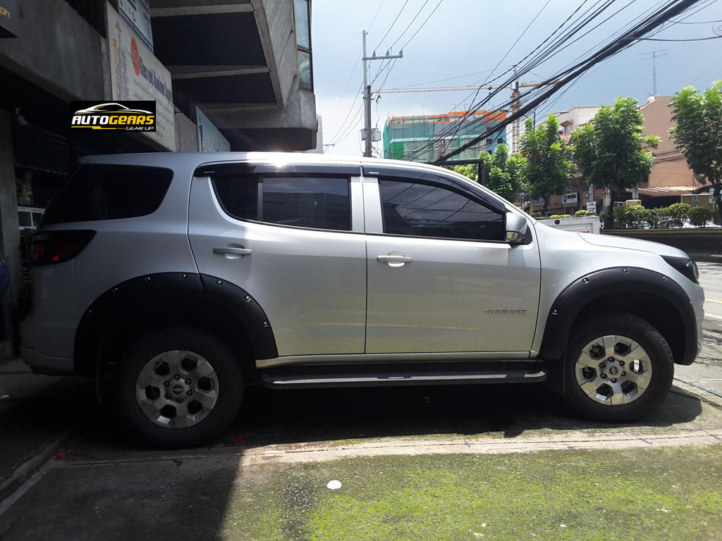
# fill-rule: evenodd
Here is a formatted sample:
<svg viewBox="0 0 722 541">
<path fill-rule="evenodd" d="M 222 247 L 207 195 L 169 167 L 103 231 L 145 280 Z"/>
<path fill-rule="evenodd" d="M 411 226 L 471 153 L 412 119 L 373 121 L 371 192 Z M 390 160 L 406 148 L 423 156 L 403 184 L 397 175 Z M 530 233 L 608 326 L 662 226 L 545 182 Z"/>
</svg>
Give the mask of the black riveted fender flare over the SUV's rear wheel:
<svg viewBox="0 0 722 541">
<path fill-rule="evenodd" d="M 229 325 L 242 325 L 237 332 L 248 335 L 255 359 L 278 356 L 271 322 L 247 291 L 206 274 L 153 273 L 116 284 L 85 310 L 75 333 L 75 372 L 95 376 L 103 340 L 113 327 L 143 328 L 157 322 L 159 311 L 167 311 L 172 320 L 183 306 L 201 307 L 202 312 L 225 315 Z"/>
</svg>

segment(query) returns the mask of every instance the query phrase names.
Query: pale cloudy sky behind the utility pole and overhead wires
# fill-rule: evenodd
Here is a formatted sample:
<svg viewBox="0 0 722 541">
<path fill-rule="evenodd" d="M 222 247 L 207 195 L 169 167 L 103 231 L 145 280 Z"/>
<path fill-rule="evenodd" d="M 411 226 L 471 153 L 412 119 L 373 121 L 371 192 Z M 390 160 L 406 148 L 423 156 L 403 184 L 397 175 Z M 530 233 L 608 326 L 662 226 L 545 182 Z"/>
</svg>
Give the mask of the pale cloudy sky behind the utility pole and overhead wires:
<svg viewBox="0 0 722 541">
<path fill-rule="evenodd" d="M 379 69 L 385 68 L 375 79 L 373 89 L 382 84 L 386 89 L 412 85 L 479 85 L 520 62 L 580 5 L 583 9 L 575 17 L 588 8 L 606 3 L 609 3 L 609 8 L 575 36 L 580 37 L 576 43 L 536 67 L 533 73 L 522 76 L 522 82 L 553 76 L 575 58 L 586 56 L 588 50 L 596 50 L 599 45 L 608 43 L 610 35 L 622 30 L 635 17 L 673 2 L 313 0 L 316 109 L 323 117 L 324 144 L 334 144 L 327 151 L 353 155 L 362 151 L 362 100 L 359 95 L 363 81 L 360 61 L 362 30 L 369 32 L 369 55 L 374 50 L 378 55 L 385 54 L 394 42 L 392 54 L 397 54 L 399 48 L 405 45 L 404 58 L 399 61 L 388 63 L 388 66 L 383 61 L 370 62 L 372 80 Z M 588 32 L 604 19 L 608 20 Z M 653 92 L 652 61 L 646 59 L 653 51 L 661 51 L 656 59 L 657 93 L 660 95 L 674 94 L 688 84 L 707 87 L 713 80 L 722 79 L 722 39 L 699 40 L 722 35 L 722 3 L 701 0 L 689 12 L 673 20 L 677 24 L 669 24 L 653 38 L 677 41 L 645 40 L 636 43 L 625 52 L 594 66 L 575 84 L 567 87 L 563 95 L 560 96 L 562 91 L 540 105 L 536 110 L 537 116 L 577 105 L 609 104 L 620 95 L 644 102 Z M 414 36 L 417 30 L 419 32 Z M 690 39 L 697 41 L 688 41 Z M 492 73 L 497 65 L 497 71 Z M 486 93 L 480 92 L 479 98 Z M 473 92 L 458 91 L 382 93 L 380 100 L 373 103 L 372 125 L 383 129 L 383 123 L 389 116 L 466 110 L 473 97 Z M 500 92 L 492 104 L 503 103 L 509 97 L 509 91 Z M 376 143 L 375 148 L 383 151 L 380 143 Z"/>
</svg>

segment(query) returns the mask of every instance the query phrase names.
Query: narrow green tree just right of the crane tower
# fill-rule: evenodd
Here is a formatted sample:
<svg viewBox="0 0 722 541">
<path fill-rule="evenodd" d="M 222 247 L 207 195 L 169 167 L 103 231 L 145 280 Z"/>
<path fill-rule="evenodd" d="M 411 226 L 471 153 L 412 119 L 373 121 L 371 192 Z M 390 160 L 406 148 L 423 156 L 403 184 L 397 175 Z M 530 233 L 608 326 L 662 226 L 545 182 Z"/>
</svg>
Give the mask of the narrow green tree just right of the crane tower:
<svg viewBox="0 0 722 541">
<path fill-rule="evenodd" d="M 539 128 L 526 119 L 526 133 L 521 136 L 523 178 L 531 199 L 564 193 L 574 175 L 572 149 L 559 137 L 557 117 L 549 115 Z"/>
</svg>

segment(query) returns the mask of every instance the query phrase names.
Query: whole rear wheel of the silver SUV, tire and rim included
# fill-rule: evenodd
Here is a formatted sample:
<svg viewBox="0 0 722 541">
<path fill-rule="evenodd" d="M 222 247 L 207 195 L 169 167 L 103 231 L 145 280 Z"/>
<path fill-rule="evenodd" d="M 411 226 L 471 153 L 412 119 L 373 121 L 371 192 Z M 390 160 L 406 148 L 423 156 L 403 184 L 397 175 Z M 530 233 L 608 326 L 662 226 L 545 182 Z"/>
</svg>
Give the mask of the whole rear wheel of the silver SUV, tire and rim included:
<svg viewBox="0 0 722 541">
<path fill-rule="evenodd" d="M 218 436 L 240 407 L 243 374 L 225 343 L 202 330 L 158 330 L 123 356 L 118 413 L 147 444 L 188 447 Z"/>
</svg>

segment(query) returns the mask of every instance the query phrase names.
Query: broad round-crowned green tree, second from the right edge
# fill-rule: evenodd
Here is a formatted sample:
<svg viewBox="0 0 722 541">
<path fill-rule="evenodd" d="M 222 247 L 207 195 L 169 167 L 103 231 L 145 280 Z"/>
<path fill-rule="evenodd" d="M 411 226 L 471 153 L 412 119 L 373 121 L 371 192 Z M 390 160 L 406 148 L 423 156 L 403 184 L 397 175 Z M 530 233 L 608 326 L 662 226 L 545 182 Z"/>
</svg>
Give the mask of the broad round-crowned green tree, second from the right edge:
<svg viewBox="0 0 722 541">
<path fill-rule="evenodd" d="M 574 160 L 590 184 L 616 192 L 647 180 L 661 139 L 645 136 L 644 118 L 632 97 L 602 105 L 591 122 L 572 132 Z"/>
</svg>

